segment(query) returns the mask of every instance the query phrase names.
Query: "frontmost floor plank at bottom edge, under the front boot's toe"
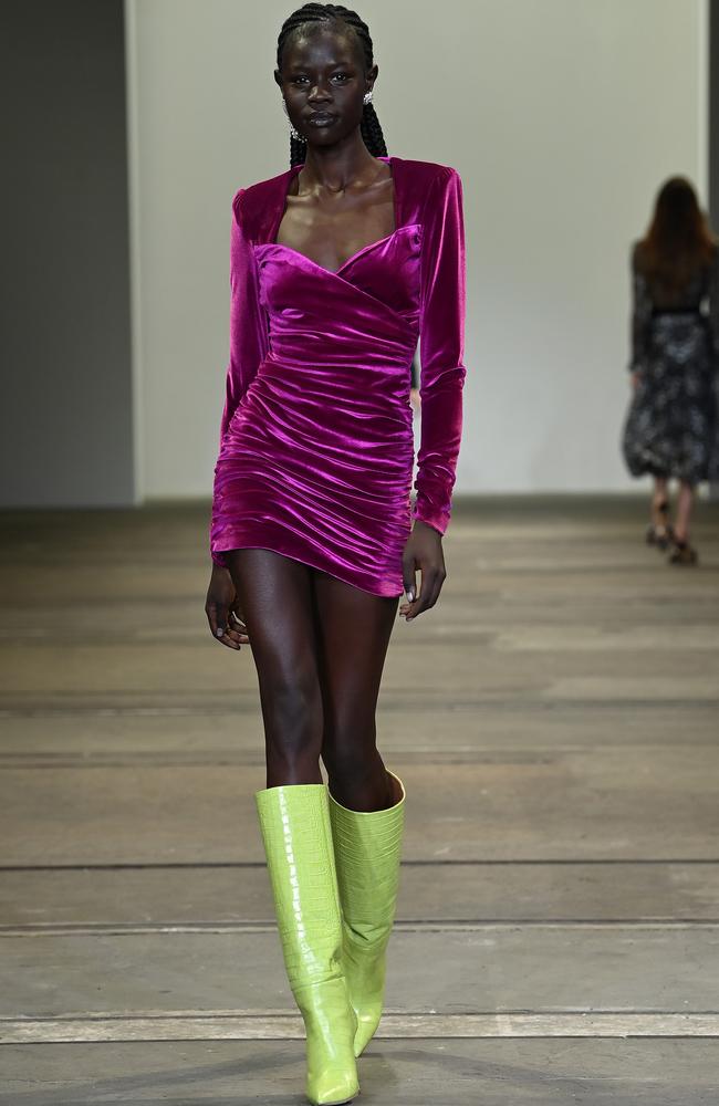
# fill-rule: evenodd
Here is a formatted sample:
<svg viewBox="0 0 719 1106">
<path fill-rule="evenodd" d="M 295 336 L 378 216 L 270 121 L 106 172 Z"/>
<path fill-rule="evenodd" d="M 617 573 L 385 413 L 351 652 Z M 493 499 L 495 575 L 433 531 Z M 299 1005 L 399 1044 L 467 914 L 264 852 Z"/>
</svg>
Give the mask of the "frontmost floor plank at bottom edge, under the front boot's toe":
<svg viewBox="0 0 719 1106">
<path fill-rule="evenodd" d="M 300 1106 L 300 1042 L 3 1050 L 3 1106 Z M 704 1041 L 383 1041 L 361 1061 L 373 1106 L 709 1106 Z"/>
</svg>

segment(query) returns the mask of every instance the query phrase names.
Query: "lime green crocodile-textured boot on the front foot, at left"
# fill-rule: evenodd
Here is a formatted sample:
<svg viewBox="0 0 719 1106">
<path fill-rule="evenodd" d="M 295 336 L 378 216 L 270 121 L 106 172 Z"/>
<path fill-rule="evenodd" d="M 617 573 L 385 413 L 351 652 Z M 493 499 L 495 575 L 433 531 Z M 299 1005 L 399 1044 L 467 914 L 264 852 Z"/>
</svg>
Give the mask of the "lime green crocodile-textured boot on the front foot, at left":
<svg viewBox="0 0 719 1106">
<path fill-rule="evenodd" d="M 322 783 L 256 794 L 284 966 L 306 1030 L 308 1098 L 348 1103 L 359 1091 L 356 1019 L 342 964 L 342 921 L 327 791 Z"/>
</svg>

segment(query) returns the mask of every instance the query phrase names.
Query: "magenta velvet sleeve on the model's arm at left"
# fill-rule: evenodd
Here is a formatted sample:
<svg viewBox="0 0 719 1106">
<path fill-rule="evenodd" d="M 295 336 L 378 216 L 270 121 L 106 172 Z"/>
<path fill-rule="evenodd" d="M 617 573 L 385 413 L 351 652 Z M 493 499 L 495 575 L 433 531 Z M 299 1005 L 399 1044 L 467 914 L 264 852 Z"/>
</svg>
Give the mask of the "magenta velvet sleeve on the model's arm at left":
<svg viewBox="0 0 719 1106">
<path fill-rule="evenodd" d="M 243 188 L 232 200 L 230 232 L 230 361 L 220 424 L 220 446 L 235 410 L 267 353 L 267 320 L 260 304 L 252 247 L 241 221 Z"/>
</svg>

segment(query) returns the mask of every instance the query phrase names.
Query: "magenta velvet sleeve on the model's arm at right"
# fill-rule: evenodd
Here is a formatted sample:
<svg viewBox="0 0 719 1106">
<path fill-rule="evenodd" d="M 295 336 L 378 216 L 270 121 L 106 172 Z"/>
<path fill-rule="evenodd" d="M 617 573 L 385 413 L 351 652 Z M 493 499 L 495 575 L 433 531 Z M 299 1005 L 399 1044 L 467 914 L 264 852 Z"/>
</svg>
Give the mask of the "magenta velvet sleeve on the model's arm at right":
<svg viewBox="0 0 719 1106">
<path fill-rule="evenodd" d="M 466 376 L 462 185 L 449 166 L 428 190 L 423 228 L 421 422 L 414 517 L 444 534 L 459 453 Z"/>
</svg>

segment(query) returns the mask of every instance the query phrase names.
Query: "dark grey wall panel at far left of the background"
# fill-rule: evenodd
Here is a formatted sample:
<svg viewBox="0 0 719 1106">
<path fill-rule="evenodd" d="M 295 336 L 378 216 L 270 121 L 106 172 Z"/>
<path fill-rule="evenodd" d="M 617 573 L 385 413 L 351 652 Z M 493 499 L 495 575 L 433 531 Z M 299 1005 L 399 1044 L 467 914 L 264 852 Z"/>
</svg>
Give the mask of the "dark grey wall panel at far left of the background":
<svg viewBox="0 0 719 1106">
<path fill-rule="evenodd" d="M 0 19 L 0 502 L 131 503 L 123 3 Z"/>
</svg>

